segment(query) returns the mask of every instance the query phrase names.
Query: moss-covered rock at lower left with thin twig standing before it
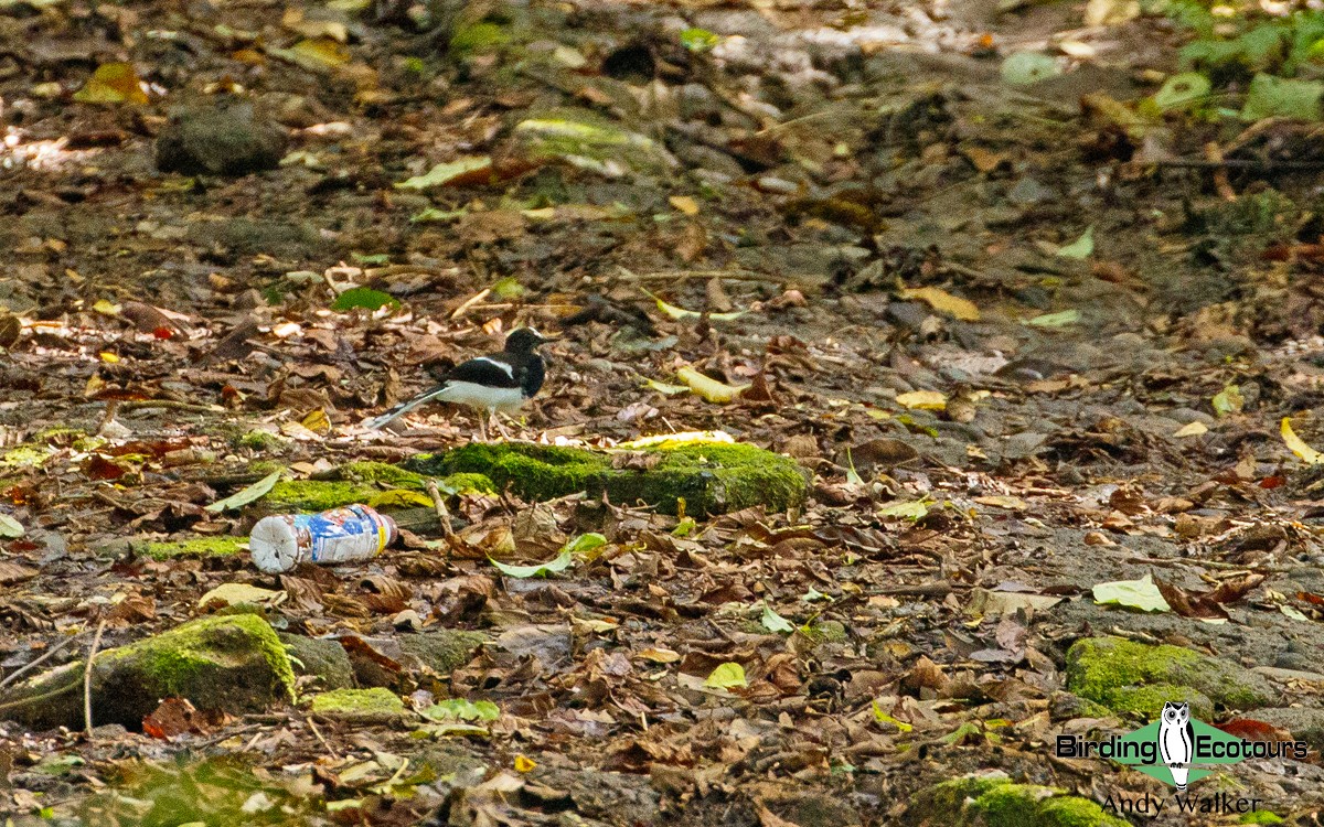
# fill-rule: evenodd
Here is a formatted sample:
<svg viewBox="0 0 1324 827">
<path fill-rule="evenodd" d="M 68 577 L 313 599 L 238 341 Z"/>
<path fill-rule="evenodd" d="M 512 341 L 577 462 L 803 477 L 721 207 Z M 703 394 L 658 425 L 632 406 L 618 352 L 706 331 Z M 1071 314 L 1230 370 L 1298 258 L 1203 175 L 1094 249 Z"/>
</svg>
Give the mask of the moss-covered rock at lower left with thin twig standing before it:
<svg viewBox="0 0 1324 827">
<path fill-rule="evenodd" d="M 32 728 L 81 728 L 82 677 L 82 662 L 37 675 L 0 699 L 0 716 Z M 275 631 L 252 614 L 192 621 L 97 656 L 95 724 L 138 728 L 163 697 L 185 697 L 199 709 L 261 712 L 294 700 L 294 671 Z"/>
</svg>

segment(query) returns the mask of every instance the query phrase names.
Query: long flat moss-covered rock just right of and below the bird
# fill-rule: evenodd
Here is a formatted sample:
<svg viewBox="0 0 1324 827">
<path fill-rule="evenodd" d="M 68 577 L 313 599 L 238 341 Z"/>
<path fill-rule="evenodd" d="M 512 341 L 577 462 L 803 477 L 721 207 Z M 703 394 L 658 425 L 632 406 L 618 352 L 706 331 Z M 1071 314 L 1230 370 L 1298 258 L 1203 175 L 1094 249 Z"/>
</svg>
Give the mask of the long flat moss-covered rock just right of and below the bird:
<svg viewBox="0 0 1324 827">
<path fill-rule="evenodd" d="M 647 503 L 677 513 L 724 513 L 751 505 L 782 511 L 804 501 L 794 460 L 743 443 L 675 442 L 639 451 L 591 451 L 528 442 L 473 443 L 405 467 L 420 474 L 482 474 L 530 500 L 577 492 L 616 503 Z"/>
</svg>

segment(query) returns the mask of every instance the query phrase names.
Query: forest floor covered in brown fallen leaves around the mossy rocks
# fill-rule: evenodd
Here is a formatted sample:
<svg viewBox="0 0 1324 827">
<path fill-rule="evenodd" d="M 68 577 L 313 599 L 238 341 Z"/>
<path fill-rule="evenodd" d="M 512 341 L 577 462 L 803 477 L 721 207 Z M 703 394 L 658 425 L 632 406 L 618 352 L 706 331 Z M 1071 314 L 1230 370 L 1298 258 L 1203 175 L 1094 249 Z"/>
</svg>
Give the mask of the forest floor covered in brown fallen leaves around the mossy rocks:
<svg viewBox="0 0 1324 827">
<path fill-rule="evenodd" d="M 4 722 L 0 814 L 887 824 L 994 769 L 1170 799 L 1051 754 L 1148 720 L 1068 685 L 1067 650 L 1102 635 L 1267 681 L 1263 712 L 1214 697 L 1207 722 L 1317 749 L 1324 501 L 1280 435 L 1294 417 L 1324 445 L 1313 127 L 1131 119 L 1182 36 L 1071 3 L 487 4 L 449 52 L 408 4 L 354 5 L 0 0 L 0 675 L 242 584 L 282 594 L 281 631 L 385 663 L 400 631 L 483 632 L 391 687 L 500 715 L 467 737 L 303 705 Z M 1018 50 L 1066 71 L 1012 86 Z M 277 577 L 142 554 L 245 537 L 261 504 L 204 507 L 262 463 L 307 478 L 469 439 L 462 412 L 360 422 L 519 324 L 560 337 L 518 438 L 724 430 L 794 457 L 809 501 L 691 524 L 459 496 L 449 554 L 434 525 Z M 683 365 L 757 393 L 665 393 Z M 589 531 L 609 552 L 548 578 L 486 560 L 493 537 L 536 562 Z M 1095 599 L 1141 581 L 1124 602 L 1152 602 L 1147 576 L 1158 610 Z M 728 663 L 745 685 L 708 680 Z M 1313 824 L 1317 760 L 1200 785 Z M 1239 818 L 1174 810 L 1135 819 Z"/>
</svg>

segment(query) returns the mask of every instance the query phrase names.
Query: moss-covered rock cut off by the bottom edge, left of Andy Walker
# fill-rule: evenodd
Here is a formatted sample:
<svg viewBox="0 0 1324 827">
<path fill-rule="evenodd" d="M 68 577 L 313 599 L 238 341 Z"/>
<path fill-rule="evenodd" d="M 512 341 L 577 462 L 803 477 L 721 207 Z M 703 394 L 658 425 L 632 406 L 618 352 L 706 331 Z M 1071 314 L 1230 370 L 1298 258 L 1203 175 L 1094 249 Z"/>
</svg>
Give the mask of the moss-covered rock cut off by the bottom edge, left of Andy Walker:
<svg viewBox="0 0 1324 827">
<path fill-rule="evenodd" d="M 1013 783 L 1004 773 L 953 778 L 911 798 L 902 824 L 914 827 L 1128 827 L 1092 801 Z"/>
</svg>

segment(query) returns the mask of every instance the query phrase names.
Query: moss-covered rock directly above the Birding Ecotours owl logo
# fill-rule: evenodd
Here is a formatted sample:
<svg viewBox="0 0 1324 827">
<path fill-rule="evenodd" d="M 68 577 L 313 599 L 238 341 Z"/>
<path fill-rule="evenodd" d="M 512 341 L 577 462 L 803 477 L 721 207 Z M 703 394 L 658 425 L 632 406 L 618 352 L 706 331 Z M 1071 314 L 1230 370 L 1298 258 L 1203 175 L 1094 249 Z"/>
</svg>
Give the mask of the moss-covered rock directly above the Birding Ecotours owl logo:
<svg viewBox="0 0 1324 827">
<path fill-rule="evenodd" d="M 1067 651 L 1067 688 L 1113 712 L 1153 718 L 1164 701 L 1190 703 L 1196 717 L 1214 708 L 1255 709 L 1278 692 L 1256 672 L 1177 646 L 1084 638 Z"/>
</svg>

